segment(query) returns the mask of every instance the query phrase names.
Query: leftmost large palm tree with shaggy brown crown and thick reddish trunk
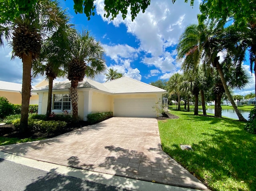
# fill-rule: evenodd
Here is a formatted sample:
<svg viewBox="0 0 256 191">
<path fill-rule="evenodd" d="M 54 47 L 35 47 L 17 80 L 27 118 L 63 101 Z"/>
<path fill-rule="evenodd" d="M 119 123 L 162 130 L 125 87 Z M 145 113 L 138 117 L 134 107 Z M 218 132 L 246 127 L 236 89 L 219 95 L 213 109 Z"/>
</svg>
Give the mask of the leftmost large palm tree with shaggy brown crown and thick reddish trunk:
<svg viewBox="0 0 256 191">
<path fill-rule="evenodd" d="M 28 107 L 31 91 L 31 68 L 33 61 L 40 55 L 42 39 L 47 38 L 51 31 L 58 29 L 60 6 L 55 0 L 38 0 L 32 12 L 22 14 L 14 20 L 0 24 L 0 45 L 4 39 L 10 43 L 13 56 L 22 59 L 22 107 L 20 131 L 28 132 Z"/>
</svg>

